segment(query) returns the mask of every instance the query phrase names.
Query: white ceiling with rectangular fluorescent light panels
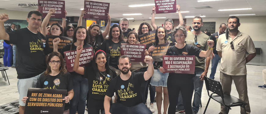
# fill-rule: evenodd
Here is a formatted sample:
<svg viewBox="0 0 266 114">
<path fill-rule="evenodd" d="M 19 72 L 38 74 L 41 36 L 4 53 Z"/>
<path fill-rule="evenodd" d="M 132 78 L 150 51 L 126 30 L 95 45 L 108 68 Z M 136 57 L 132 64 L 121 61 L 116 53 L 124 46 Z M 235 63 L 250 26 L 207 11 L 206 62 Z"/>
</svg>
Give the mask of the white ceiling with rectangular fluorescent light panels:
<svg viewBox="0 0 266 114">
<path fill-rule="evenodd" d="M 96 0 L 95 0 L 96 1 Z M 153 6 L 144 7 L 128 7 L 128 5 L 154 3 L 154 0 L 97 0 L 98 2 L 109 2 L 109 14 L 113 19 L 134 18 L 135 20 L 144 20 L 151 17 L 151 9 Z M 29 12 L 37 9 L 37 7 L 23 8 L 18 4 L 37 3 L 38 0 L 0 0 L 0 10 L 16 10 Z M 206 18 L 212 17 L 229 17 L 235 14 L 256 14 L 253 16 L 266 16 L 266 0 L 225 0 L 215 2 L 197 2 L 197 0 L 176 0 L 180 5 L 181 11 L 189 11 L 182 13 L 185 16 L 200 16 Z M 196 9 L 195 7 L 211 7 L 210 9 Z M 84 7 L 84 0 L 65 0 L 65 9 L 68 16 L 79 16 L 81 8 Z M 219 9 L 238 9 L 252 8 L 251 10 L 239 11 L 218 11 Z M 138 16 L 123 16 L 123 14 L 142 13 Z M 155 17 L 166 17 L 177 19 L 178 13 L 156 14 Z"/>
</svg>

